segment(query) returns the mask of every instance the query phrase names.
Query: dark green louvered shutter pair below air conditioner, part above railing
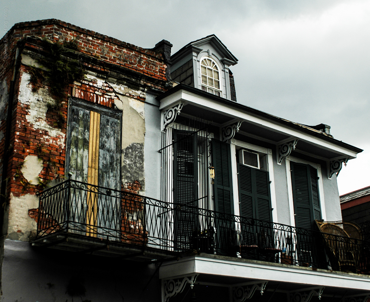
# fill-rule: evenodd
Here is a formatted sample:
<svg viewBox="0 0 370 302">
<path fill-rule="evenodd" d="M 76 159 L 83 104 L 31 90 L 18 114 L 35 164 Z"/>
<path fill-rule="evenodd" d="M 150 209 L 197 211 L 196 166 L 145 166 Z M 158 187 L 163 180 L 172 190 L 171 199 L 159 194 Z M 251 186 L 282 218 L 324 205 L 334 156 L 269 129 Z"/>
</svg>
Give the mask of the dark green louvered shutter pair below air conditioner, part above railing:
<svg viewBox="0 0 370 302">
<path fill-rule="evenodd" d="M 238 163 L 240 216 L 272 221 L 269 172 Z"/>
</svg>

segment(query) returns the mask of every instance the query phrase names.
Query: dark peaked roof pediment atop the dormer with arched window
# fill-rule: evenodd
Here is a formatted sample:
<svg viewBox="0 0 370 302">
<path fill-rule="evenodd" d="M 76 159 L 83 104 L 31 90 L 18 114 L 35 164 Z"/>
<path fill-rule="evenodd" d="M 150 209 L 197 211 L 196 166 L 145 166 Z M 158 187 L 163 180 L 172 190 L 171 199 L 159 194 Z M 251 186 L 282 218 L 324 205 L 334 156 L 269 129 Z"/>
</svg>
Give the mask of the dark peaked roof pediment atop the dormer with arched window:
<svg viewBox="0 0 370 302">
<path fill-rule="evenodd" d="M 204 37 L 202 39 L 195 40 L 193 42 L 190 42 L 186 44 L 182 49 L 178 50 L 175 54 L 171 56 L 171 61 L 175 62 L 182 57 L 186 56 L 189 52 L 195 52 L 199 53 L 202 50 L 205 50 L 205 46 L 207 44 L 211 44 L 211 46 L 215 49 L 216 52 L 218 52 L 220 60 L 222 62 L 225 62 L 227 65 L 235 65 L 238 63 L 238 59 L 228 50 L 228 48 L 221 42 L 218 37 L 216 37 L 214 34 L 211 34 L 207 37 Z"/>
</svg>

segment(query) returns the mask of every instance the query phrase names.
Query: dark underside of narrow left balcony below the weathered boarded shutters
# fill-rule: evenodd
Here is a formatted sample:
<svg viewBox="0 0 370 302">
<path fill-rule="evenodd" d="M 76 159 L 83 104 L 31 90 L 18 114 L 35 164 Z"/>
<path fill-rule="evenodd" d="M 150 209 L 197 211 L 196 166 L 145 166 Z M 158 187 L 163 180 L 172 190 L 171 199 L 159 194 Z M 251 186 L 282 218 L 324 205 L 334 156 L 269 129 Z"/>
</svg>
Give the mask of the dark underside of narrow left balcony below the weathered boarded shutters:
<svg viewBox="0 0 370 302">
<path fill-rule="evenodd" d="M 178 256 L 176 252 L 70 232 L 48 234 L 35 239 L 32 245 L 40 248 L 53 248 L 81 254 L 88 253 L 96 256 L 135 261 L 171 259 Z"/>
</svg>

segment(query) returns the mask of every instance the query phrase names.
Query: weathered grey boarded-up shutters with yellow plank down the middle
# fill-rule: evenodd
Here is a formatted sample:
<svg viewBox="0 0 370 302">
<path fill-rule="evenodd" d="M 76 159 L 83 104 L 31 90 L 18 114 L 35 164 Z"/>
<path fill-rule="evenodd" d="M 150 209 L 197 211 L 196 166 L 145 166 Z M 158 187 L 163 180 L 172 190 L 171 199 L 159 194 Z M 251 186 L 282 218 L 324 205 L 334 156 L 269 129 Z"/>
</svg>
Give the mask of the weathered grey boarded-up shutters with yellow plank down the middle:
<svg viewBox="0 0 370 302">
<path fill-rule="evenodd" d="M 88 185 L 86 196 L 74 196 L 75 200 L 71 200 L 73 216 L 69 220 L 86 225 L 90 236 L 104 233 L 104 229 L 117 229 L 120 209 L 113 205 L 117 202 L 94 193 L 98 192 L 94 186 L 121 189 L 121 120 L 122 113 L 118 110 L 70 99 L 66 173 Z"/>
</svg>

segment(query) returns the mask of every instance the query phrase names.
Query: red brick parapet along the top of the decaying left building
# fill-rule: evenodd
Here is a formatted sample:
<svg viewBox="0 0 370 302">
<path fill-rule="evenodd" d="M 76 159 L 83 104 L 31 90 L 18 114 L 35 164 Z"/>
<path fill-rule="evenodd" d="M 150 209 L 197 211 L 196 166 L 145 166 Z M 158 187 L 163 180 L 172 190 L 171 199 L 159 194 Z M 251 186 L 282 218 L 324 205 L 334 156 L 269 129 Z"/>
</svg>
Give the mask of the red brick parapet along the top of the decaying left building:
<svg viewBox="0 0 370 302">
<path fill-rule="evenodd" d="M 9 58 L 4 60 L 0 79 L 4 77 L 4 72 L 11 65 L 15 44 L 27 36 L 38 36 L 48 37 L 55 42 L 75 40 L 80 46 L 81 53 L 93 56 L 102 62 L 134 70 L 153 79 L 168 80 L 166 78 L 168 64 L 165 62 L 163 50 L 144 49 L 60 20 L 48 19 L 17 23 L 9 30 L 7 36 Z M 4 47 L 4 39 L 2 39 L 1 52 L 4 51 Z"/>
</svg>

